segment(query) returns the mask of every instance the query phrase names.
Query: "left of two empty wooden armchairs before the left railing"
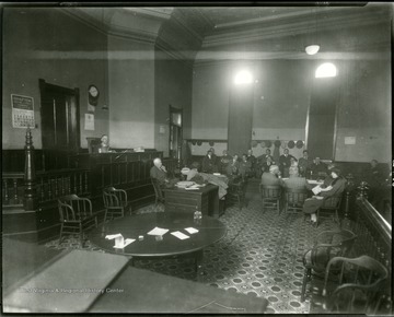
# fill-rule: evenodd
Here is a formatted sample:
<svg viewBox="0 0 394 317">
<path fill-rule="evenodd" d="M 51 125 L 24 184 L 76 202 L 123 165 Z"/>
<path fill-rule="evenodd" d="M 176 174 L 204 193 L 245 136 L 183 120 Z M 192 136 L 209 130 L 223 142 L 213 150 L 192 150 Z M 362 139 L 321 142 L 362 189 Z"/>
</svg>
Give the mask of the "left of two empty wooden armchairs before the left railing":
<svg viewBox="0 0 394 317">
<path fill-rule="evenodd" d="M 78 234 L 82 247 L 84 232 L 97 226 L 97 213 L 93 213 L 92 202 L 88 198 L 68 195 L 58 199 L 58 208 L 61 224 L 59 245 L 65 234 Z"/>
</svg>

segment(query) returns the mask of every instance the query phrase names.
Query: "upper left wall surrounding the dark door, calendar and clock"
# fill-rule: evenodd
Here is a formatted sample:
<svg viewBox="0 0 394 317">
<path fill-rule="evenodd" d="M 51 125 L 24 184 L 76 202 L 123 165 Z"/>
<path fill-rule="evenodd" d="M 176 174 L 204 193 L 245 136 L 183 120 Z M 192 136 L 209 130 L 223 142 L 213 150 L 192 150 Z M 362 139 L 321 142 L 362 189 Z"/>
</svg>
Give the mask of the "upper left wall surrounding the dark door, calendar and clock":
<svg viewBox="0 0 394 317">
<path fill-rule="evenodd" d="M 104 103 L 106 36 L 61 12 L 60 9 L 3 8 L 2 149 L 22 149 L 26 129 L 12 127 L 11 94 L 34 98 L 37 128 L 33 143 L 42 149 L 38 79 L 69 89 L 80 89 L 81 146 L 86 137 L 108 133 Z M 95 110 L 95 130 L 84 130 L 88 87 L 95 84 L 101 97 Z"/>
</svg>

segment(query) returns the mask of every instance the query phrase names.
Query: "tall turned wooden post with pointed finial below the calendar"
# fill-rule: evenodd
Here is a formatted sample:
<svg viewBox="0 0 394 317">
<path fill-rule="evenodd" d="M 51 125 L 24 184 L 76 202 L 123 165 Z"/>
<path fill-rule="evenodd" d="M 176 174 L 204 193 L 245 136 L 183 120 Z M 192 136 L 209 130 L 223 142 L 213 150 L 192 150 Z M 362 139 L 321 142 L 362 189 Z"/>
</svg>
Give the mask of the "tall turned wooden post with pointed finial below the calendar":
<svg viewBox="0 0 394 317">
<path fill-rule="evenodd" d="M 23 206 L 25 210 L 36 210 L 38 206 L 38 199 L 36 196 L 36 184 L 35 184 L 35 166 L 34 166 L 34 146 L 32 140 L 32 131 L 27 127 L 26 131 L 26 144 L 25 149 L 25 171 L 24 171 L 24 200 Z"/>
</svg>

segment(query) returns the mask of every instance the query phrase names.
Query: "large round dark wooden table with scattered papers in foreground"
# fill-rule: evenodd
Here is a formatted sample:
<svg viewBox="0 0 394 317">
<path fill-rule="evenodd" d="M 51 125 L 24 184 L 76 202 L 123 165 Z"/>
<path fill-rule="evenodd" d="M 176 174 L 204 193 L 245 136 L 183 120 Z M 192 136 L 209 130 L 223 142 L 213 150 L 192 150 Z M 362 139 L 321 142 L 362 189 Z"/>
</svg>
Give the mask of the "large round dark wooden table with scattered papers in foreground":
<svg viewBox="0 0 394 317">
<path fill-rule="evenodd" d="M 167 228 L 169 232 L 158 239 L 148 235 L 154 227 Z M 194 227 L 198 233 L 189 234 L 186 227 Z M 179 239 L 171 233 L 179 231 L 189 236 Z M 124 238 L 136 239 L 123 249 L 114 248 L 115 240 L 106 239 L 106 235 L 120 233 Z M 211 216 L 204 215 L 199 223 L 193 219 L 193 213 L 155 212 L 125 216 L 106 222 L 88 233 L 91 243 L 106 251 L 123 254 L 134 260 L 141 258 L 162 258 L 189 254 L 196 259 L 196 269 L 202 260 L 202 249 L 224 237 L 227 228 L 223 223 Z M 138 237 L 143 235 L 143 239 Z"/>
</svg>

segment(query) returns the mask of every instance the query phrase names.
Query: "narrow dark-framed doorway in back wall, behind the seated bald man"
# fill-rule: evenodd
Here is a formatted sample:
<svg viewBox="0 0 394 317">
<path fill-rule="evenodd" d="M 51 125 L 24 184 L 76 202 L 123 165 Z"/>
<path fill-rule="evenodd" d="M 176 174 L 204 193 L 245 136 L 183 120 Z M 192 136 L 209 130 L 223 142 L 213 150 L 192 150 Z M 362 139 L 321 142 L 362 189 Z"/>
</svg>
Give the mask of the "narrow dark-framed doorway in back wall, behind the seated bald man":
<svg viewBox="0 0 394 317">
<path fill-rule="evenodd" d="M 181 162 L 183 110 L 170 105 L 170 157 Z"/>
</svg>

